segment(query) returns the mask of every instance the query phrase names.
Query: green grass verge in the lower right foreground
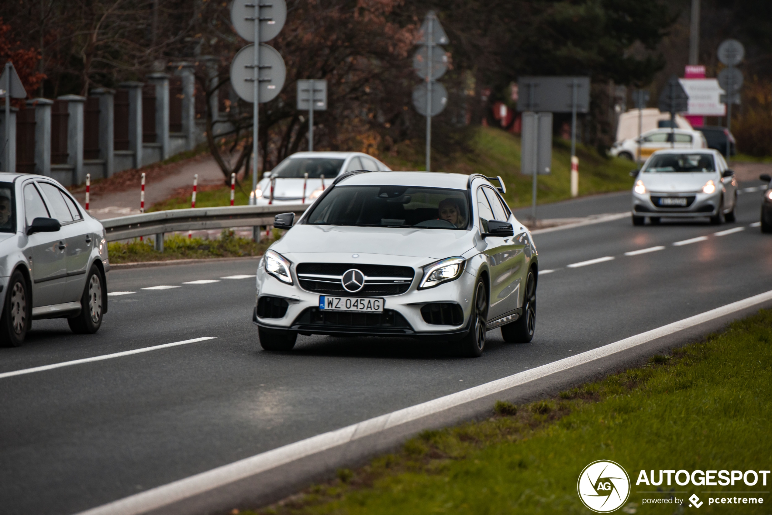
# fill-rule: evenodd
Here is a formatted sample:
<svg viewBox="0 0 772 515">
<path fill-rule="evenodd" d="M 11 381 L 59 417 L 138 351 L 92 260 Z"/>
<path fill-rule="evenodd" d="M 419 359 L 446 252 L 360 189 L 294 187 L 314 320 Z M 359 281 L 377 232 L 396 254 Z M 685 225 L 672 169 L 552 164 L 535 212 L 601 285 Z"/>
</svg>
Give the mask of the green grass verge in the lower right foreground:
<svg viewBox="0 0 772 515">
<path fill-rule="evenodd" d="M 631 476 L 624 513 L 683 513 L 642 503 L 636 490 L 658 487 L 636 487 L 639 471 L 770 469 L 770 364 L 772 310 L 762 310 L 645 367 L 556 398 L 499 401 L 483 422 L 423 432 L 361 469 L 340 470 L 330 483 L 241 513 L 591 513 L 577 496 L 577 478 L 598 459 L 620 463 Z M 706 489 L 770 490 L 742 482 L 660 488 L 703 501 Z M 765 503 L 727 509 L 705 502 L 699 511 L 768 513 L 769 494 L 753 495 Z"/>
</svg>

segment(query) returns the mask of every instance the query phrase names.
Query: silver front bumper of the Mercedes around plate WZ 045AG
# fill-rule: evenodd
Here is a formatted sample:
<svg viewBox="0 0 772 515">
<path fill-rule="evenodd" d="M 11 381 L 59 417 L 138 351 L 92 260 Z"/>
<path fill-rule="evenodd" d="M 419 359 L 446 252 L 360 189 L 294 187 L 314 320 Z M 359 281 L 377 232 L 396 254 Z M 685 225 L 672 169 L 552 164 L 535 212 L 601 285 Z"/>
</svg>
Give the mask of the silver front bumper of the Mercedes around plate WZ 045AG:
<svg viewBox="0 0 772 515">
<path fill-rule="evenodd" d="M 366 256 L 361 256 L 361 259 L 364 263 Z M 431 260 L 427 259 L 428 261 Z M 417 290 L 422 274 L 417 269 L 416 276 L 407 292 L 399 295 L 377 296 L 384 299 L 384 310 L 398 313 L 398 317 L 404 319 L 405 324 L 396 324 L 391 327 L 366 327 L 352 324 L 344 326 L 329 323 L 310 324 L 309 311 L 314 308 L 318 310 L 320 293 L 306 291 L 298 286 L 294 265 L 292 273 L 294 284 L 289 285 L 267 274 L 262 266 L 258 267 L 256 304 L 262 296 L 279 297 L 288 303 L 286 313 L 281 318 L 259 317 L 255 307 L 252 311 L 252 321 L 259 327 L 266 330 L 292 330 L 300 334 L 405 336 L 452 340 L 466 332 L 471 318 L 472 292 L 476 284 L 476 276 L 469 273 L 469 269 L 462 273 L 458 279 L 427 290 Z M 349 296 L 356 296 L 356 294 L 351 293 Z M 462 323 L 458 325 L 428 324 L 422 316 L 421 308 L 426 304 L 433 303 L 458 304 L 463 313 Z"/>
</svg>

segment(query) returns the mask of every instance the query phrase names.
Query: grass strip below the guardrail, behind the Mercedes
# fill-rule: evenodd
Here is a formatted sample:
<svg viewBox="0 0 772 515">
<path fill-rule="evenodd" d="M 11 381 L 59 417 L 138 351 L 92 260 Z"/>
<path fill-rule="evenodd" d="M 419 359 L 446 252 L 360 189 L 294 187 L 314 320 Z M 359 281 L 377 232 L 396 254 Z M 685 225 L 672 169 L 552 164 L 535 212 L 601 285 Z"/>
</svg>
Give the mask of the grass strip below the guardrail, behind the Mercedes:
<svg viewBox="0 0 772 515">
<path fill-rule="evenodd" d="M 278 229 L 274 229 L 273 239 L 278 238 Z M 134 239 L 127 243 L 110 242 L 107 253 L 110 263 L 139 263 L 144 261 L 168 261 L 169 259 L 197 259 L 217 257 L 261 256 L 273 239 L 256 243 L 252 239 L 241 238 L 231 229 L 223 229 L 218 239 L 190 238 L 175 234 L 164 239 L 164 252 L 157 252 L 154 243 L 147 239 Z"/>
</svg>

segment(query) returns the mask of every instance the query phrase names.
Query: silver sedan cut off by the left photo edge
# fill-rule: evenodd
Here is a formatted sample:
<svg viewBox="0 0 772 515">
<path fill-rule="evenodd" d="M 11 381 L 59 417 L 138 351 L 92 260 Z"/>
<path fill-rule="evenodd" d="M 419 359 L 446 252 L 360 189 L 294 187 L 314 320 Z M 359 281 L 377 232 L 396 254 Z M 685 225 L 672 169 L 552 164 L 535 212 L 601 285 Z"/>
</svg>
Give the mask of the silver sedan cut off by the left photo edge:
<svg viewBox="0 0 772 515">
<path fill-rule="evenodd" d="M 0 344 L 21 345 L 42 318 L 96 333 L 107 313 L 109 269 L 102 224 L 62 185 L 0 173 Z"/>
</svg>

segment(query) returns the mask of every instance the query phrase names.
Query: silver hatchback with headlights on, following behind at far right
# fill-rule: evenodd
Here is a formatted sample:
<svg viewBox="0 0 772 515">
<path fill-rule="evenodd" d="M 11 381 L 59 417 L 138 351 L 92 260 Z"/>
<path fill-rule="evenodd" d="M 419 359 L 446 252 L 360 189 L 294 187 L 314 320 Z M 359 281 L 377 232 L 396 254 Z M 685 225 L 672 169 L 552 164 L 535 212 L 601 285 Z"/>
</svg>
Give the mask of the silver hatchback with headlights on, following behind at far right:
<svg viewBox="0 0 772 515">
<path fill-rule="evenodd" d="M 662 217 L 734 222 L 737 181 L 718 151 L 657 151 L 631 175 L 633 225 L 643 225 L 646 217 L 652 224 Z"/>
</svg>

